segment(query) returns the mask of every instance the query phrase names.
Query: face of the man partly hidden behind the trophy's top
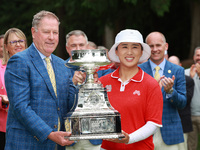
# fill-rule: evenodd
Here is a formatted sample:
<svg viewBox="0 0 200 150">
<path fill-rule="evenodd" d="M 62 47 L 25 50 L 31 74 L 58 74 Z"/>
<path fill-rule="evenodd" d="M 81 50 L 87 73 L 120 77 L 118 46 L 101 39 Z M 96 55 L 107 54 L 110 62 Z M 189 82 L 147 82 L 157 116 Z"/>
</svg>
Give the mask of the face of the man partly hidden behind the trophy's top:
<svg viewBox="0 0 200 150">
<path fill-rule="evenodd" d="M 66 50 L 71 57 L 71 51 L 73 50 L 85 50 L 87 49 L 87 40 L 82 35 L 72 35 L 69 37 L 66 45 Z"/>
</svg>

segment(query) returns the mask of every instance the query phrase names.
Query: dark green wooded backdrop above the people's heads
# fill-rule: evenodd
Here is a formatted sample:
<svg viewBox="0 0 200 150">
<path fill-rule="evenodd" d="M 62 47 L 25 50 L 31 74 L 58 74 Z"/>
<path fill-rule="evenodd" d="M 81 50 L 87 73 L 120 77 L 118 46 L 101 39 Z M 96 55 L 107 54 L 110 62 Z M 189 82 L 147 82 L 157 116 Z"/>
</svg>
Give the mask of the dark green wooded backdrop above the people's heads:
<svg viewBox="0 0 200 150">
<path fill-rule="evenodd" d="M 137 29 L 144 37 L 154 30 L 163 32 L 170 49 L 173 48 L 171 53 L 185 59 L 190 49 L 189 6 L 189 0 L 181 3 L 178 0 L 1 0 L 0 32 L 4 33 L 10 27 L 20 28 L 31 44 L 33 15 L 40 10 L 49 10 L 60 18 L 60 42 L 55 53 L 64 59 L 68 57 L 65 35 L 69 31 L 83 30 L 89 40 L 110 48 L 116 33 L 125 28 Z M 199 14 L 192 16 L 195 15 Z M 195 45 L 194 38 L 197 41 L 200 37 L 192 37 L 191 43 Z"/>
</svg>

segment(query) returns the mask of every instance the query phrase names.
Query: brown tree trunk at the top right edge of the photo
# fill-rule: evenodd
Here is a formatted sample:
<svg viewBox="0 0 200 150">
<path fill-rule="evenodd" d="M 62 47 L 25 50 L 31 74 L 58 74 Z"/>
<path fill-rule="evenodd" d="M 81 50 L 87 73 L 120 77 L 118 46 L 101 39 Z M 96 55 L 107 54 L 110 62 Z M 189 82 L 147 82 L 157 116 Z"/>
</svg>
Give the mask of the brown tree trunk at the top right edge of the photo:
<svg viewBox="0 0 200 150">
<path fill-rule="evenodd" d="M 200 1 L 191 1 L 191 46 L 189 58 L 193 58 L 194 49 L 200 46 Z M 183 33 L 184 36 L 184 33 Z M 184 44 L 184 43 L 183 43 Z"/>
</svg>

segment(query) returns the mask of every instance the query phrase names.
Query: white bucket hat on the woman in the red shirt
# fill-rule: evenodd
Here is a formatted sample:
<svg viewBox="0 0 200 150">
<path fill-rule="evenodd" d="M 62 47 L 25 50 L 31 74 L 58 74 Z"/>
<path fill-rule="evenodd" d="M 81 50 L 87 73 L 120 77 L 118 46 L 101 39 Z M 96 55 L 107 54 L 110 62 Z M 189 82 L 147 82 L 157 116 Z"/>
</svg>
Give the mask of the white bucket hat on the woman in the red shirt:
<svg viewBox="0 0 200 150">
<path fill-rule="evenodd" d="M 147 60 L 151 55 L 151 48 L 148 44 L 143 42 L 142 34 L 138 30 L 126 29 L 122 30 L 115 37 L 115 44 L 111 47 L 108 55 L 114 62 L 120 62 L 119 57 L 116 55 L 115 50 L 122 42 L 140 43 L 143 47 L 143 54 L 139 59 L 139 63 Z"/>
</svg>

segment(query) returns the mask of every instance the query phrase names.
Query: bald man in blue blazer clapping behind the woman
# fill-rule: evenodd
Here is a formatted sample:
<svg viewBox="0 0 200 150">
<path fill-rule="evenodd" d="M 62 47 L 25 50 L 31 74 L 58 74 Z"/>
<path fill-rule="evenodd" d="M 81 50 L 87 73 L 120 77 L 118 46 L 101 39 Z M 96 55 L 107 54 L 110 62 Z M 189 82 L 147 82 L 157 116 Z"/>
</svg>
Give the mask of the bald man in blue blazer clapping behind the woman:
<svg viewBox="0 0 200 150">
<path fill-rule="evenodd" d="M 186 106 L 186 82 L 184 68 L 165 59 L 168 43 L 160 32 L 152 32 L 146 38 L 151 48 L 150 60 L 140 64 L 142 70 L 154 77 L 159 66 L 158 82 L 163 94 L 163 127 L 154 135 L 155 150 L 178 150 L 177 144 L 184 142 L 183 129 L 178 109 Z"/>
</svg>

